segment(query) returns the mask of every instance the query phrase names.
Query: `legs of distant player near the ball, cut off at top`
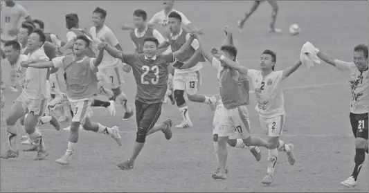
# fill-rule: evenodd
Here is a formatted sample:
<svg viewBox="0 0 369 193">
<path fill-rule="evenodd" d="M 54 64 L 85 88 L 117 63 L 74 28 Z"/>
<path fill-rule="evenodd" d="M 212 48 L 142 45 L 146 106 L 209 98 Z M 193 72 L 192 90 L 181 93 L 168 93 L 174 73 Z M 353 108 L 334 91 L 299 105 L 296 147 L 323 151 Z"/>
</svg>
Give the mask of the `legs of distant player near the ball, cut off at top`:
<svg viewBox="0 0 369 193">
<path fill-rule="evenodd" d="M 247 19 L 249 19 L 249 17 L 251 17 L 251 15 L 253 14 L 253 12 L 255 12 L 256 9 L 258 9 L 258 7 L 260 6 L 260 3 L 264 2 L 264 1 L 268 1 L 268 3 L 271 5 L 271 24 L 269 24 L 269 32 L 270 33 L 280 33 L 282 32 L 282 30 L 280 28 L 276 28 L 276 19 L 277 19 L 277 14 L 278 14 L 278 3 L 276 0 L 255 0 L 253 2 L 253 6 L 251 7 L 250 12 L 246 12 L 246 14 L 244 15 L 244 18 L 240 19 L 237 21 L 237 26 L 240 30 L 242 30 L 242 28 L 244 28 L 244 23 L 246 22 Z"/>
</svg>

